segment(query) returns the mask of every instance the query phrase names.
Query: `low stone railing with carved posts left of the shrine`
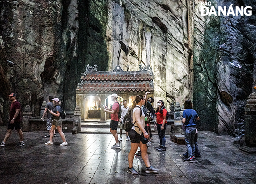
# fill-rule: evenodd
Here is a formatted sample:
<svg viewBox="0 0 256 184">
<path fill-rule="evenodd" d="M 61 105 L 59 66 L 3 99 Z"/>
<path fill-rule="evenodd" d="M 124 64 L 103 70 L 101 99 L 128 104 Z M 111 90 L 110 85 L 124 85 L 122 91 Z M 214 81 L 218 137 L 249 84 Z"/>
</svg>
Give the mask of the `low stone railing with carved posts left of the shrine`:
<svg viewBox="0 0 256 184">
<path fill-rule="evenodd" d="M 43 104 L 45 105 L 45 104 Z M 42 106 L 43 107 L 43 106 Z M 42 114 L 41 108 L 41 114 Z M 75 132 L 81 131 L 81 109 L 76 106 L 74 111 L 65 111 L 66 118 L 62 121 L 62 131 L 64 132 Z M 42 114 L 43 116 L 43 114 Z M 41 117 L 33 117 L 30 106 L 26 106 L 23 112 L 23 131 L 48 131 L 46 129 L 46 118 L 44 120 Z"/>
</svg>

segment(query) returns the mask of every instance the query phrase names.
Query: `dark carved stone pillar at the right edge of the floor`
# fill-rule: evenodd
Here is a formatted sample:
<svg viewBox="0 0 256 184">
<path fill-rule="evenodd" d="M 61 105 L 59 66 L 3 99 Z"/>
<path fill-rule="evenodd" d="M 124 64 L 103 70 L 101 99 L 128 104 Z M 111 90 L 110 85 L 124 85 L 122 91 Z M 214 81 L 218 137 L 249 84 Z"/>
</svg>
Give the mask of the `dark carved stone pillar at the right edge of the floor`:
<svg viewBox="0 0 256 184">
<path fill-rule="evenodd" d="M 247 153 L 256 153 L 256 93 L 251 93 L 248 97 L 244 116 L 244 138 L 246 147 L 240 150 Z"/>
</svg>

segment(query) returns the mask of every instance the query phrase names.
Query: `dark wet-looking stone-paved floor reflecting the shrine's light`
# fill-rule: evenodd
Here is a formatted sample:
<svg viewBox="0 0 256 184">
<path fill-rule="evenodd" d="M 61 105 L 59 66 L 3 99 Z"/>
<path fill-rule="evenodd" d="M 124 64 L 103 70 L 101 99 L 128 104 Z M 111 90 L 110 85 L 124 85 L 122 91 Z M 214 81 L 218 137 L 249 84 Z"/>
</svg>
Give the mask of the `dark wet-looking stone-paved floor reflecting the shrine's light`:
<svg viewBox="0 0 256 184">
<path fill-rule="evenodd" d="M 5 135 L 0 127 L 0 140 Z M 66 133 L 69 143 L 60 147 L 59 134 L 54 145 L 46 146 L 45 133 L 25 132 L 23 147 L 16 147 L 18 135 L 13 132 L 6 147 L 0 147 L 0 184 L 253 184 L 256 183 L 256 154 L 248 154 L 233 145 L 234 138 L 199 131 L 201 158 L 194 163 L 182 162 L 184 145 L 176 145 L 166 136 L 166 152 L 158 152 L 157 135 L 148 153 L 157 174 L 146 174 L 141 157 L 133 167 L 140 175 L 126 172 L 130 141 L 121 149 L 111 149 L 110 134 Z"/>
</svg>

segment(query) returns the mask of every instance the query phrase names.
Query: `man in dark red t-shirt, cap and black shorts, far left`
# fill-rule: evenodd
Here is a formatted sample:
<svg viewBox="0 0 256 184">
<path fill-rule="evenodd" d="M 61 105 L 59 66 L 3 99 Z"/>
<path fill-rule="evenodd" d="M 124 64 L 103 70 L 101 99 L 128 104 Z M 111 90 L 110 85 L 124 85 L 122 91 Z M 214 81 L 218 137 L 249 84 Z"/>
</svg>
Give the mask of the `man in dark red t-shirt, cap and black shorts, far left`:
<svg viewBox="0 0 256 184">
<path fill-rule="evenodd" d="M 20 142 L 16 146 L 23 146 L 23 133 L 21 131 L 21 104 L 16 100 L 16 94 L 12 93 L 9 96 L 10 101 L 12 102 L 10 106 L 10 115 L 9 122 L 7 127 L 7 133 L 5 134 L 4 140 L 0 143 L 0 146 L 5 147 L 5 143 L 10 137 L 11 131 L 16 129 L 19 134 Z"/>
</svg>

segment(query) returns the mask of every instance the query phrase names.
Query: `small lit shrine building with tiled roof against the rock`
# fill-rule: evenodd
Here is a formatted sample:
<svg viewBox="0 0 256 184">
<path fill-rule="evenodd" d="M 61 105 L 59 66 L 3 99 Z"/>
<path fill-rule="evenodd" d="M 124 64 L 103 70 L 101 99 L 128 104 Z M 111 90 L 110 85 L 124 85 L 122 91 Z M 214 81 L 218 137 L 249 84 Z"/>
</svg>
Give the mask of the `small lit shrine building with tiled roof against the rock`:
<svg viewBox="0 0 256 184">
<path fill-rule="evenodd" d="M 113 102 L 110 95 L 113 93 L 118 95 L 119 104 L 126 99 L 130 107 L 137 95 L 150 92 L 148 97 L 154 96 L 153 72 L 150 67 L 140 67 L 140 71 L 123 71 L 120 66 L 116 66 L 110 72 L 98 71 L 97 65 L 87 65 L 80 81 L 76 88 L 76 106 L 81 108 L 82 121 L 90 118 L 100 121 L 109 119 L 110 114 L 104 112 L 103 106 L 111 108 Z"/>
</svg>

